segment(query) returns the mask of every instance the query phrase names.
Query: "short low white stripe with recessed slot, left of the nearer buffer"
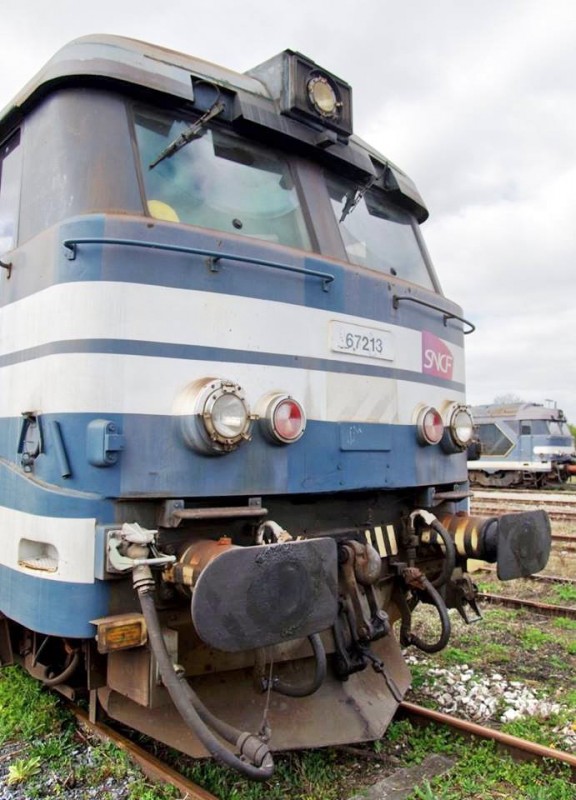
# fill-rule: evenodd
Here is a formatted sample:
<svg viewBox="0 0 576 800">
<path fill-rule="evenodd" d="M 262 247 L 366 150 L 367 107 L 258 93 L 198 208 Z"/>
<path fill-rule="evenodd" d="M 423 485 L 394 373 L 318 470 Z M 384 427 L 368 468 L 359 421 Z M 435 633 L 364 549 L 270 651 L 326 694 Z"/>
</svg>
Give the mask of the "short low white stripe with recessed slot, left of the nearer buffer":
<svg viewBox="0 0 576 800">
<path fill-rule="evenodd" d="M 44 580 L 94 583 L 96 520 L 69 517 L 44 517 L 14 508 L 0 506 L 0 530 L 9 531 L 1 537 L 0 564 L 10 569 Z M 34 543 L 38 544 L 35 552 Z M 43 546 L 56 552 L 53 572 L 24 566 L 42 556 Z"/>
</svg>

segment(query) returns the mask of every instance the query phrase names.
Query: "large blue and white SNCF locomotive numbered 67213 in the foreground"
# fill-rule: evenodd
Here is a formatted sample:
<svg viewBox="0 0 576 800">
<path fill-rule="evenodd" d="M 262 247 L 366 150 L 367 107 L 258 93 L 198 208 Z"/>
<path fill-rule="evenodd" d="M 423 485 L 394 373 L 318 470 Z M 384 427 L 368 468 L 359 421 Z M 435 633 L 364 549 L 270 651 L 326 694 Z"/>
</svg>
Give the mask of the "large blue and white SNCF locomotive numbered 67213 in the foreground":
<svg viewBox="0 0 576 800">
<path fill-rule="evenodd" d="M 56 54 L 0 118 L 3 663 L 265 779 L 383 734 L 467 558 L 544 566 L 543 512 L 467 515 L 426 217 L 299 53 Z"/>
</svg>

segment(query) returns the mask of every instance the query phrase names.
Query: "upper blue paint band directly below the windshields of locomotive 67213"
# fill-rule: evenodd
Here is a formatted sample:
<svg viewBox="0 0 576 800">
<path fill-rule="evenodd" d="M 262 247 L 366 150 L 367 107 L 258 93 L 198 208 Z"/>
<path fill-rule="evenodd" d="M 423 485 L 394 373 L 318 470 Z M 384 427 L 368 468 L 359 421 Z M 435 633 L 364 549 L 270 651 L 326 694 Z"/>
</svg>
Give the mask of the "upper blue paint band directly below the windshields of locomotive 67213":
<svg viewBox="0 0 576 800">
<path fill-rule="evenodd" d="M 74 260 L 66 256 L 63 242 L 75 238 L 122 238 L 146 239 L 165 243 L 225 252 L 236 250 L 239 256 L 284 261 L 299 268 L 328 272 L 334 275 L 328 292 L 315 275 L 299 275 L 280 272 L 257 264 L 222 262 L 217 272 L 210 270 L 203 256 L 186 253 L 159 253 L 114 245 L 79 245 Z M 45 241 L 43 242 L 43 239 Z M 28 252 L 33 250 L 33 252 Z M 21 256 L 14 256 L 18 263 L 32 263 L 43 254 L 44 269 L 41 273 L 27 273 L 21 269 L 19 282 L 7 287 L 0 298 L 6 304 L 58 283 L 74 281 L 120 281 L 151 286 L 167 286 L 178 289 L 253 297 L 259 300 L 275 300 L 291 305 L 324 309 L 335 313 L 351 314 L 383 324 L 400 325 L 414 330 L 428 330 L 448 342 L 462 345 L 461 323 L 451 320 L 446 325 L 439 311 L 418 306 L 415 303 L 400 303 L 393 307 L 394 294 L 408 293 L 427 299 L 447 312 L 460 315 L 461 309 L 446 298 L 402 284 L 361 267 L 340 261 L 321 258 L 304 251 L 291 250 L 270 245 L 256 239 L 247 239 L 232 234 L 211 233 L 191 226 L 168 225 L 144 219 L 107 217 L 95 214 L 77 217 L 51 231 L 36 237 L 33 243 L 19 248 Z"/>
</svg>

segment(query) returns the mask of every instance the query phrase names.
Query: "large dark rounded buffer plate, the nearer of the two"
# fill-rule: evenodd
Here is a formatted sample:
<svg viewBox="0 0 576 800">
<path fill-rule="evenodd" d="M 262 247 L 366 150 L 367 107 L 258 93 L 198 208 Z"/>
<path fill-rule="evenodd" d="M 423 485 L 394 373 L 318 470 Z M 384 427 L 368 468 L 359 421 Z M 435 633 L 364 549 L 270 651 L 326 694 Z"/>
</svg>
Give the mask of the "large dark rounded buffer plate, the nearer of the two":
<svg viewBox="0 0 576 800">
<path fill-rule="evenodd" d="M 336 543 L 328 538 L 227 550 L 194 587 L 196 631 L 210 647 L 236 652 L 330 628 L 337 568 Z"/>
</svg>

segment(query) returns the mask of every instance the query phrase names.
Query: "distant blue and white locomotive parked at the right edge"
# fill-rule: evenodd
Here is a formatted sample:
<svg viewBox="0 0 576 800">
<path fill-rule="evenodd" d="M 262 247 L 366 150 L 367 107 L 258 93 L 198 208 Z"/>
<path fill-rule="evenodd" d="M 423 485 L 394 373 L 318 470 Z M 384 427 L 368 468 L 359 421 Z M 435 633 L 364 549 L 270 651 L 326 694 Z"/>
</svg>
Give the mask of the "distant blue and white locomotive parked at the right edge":
<svg viewBox="0 0 576 800">
<path fill-rule="evenodd" d="M 576 475 L 574 438 L 556 405 L 492 403 L 471 411 L 479 445 L 468 462 L 472 485 L 542 488 Z"/>
</svg>

